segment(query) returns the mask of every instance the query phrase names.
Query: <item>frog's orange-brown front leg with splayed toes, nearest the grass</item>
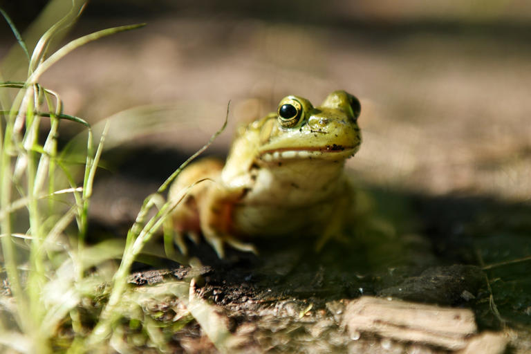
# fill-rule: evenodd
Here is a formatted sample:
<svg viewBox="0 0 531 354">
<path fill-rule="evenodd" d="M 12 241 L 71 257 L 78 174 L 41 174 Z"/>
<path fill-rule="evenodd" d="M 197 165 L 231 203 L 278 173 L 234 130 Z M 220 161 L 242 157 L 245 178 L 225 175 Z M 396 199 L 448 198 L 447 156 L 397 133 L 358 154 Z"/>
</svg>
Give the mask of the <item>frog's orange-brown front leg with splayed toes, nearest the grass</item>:
<svg viewBox="0 0 531 354">
<path fill-rule="evenodd" d="M 244 243 L 232 234 L 232 210 L 234 204 L 239 201 L 245 193 L 243 188 L 227 189 L 223 185 L 216 183 L 199 207 L 199 218 L 201 221 L 201 231 L 205 240 L 216 251 L 219 258 L 225 257 L 224 243 L 228 243 L 236 250 L 243 252 L 253 252 L 257 254 L 257 249 L 251 243 Z"/>
</svg>

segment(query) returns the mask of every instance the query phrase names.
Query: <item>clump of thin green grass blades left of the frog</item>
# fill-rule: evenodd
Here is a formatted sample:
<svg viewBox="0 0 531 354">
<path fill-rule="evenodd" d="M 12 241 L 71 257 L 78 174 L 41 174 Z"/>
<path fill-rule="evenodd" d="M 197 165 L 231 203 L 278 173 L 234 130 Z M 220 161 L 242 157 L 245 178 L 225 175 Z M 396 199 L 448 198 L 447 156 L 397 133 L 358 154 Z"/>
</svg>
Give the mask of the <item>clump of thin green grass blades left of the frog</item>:
<svg viewBox="0 0 531 354">
<path fill-rule="evenodd" d="M 1 12 L 22 49 L 27 74 L 25 80 L 0 81 L 1 272 L 8 284 L 0 295 L 0 351 L 82 353 L 140 346 L 167 352 L 172 333 L 192 320 L 224 351 L 231 335 L 209 304 L 191 291 L 193 279 L 150 288 L 128 285 L 131 264 L 179 203 L 165 201 L 162 193 L 223 128 L 146 198 L 124 243 L 84 243 L 93 181 L 106 136 L 112 131 L 107 122 L 96 139 L 90 124 L 65 114 L 59 94 L 41 86 L 39 78 L 72 50 L 143 24 L 100 30 L 53 51 L 54 39 L 64 35 L 83 8 L 84 3 L 73 2 L 70 12 L 50 24 L 35 48 L 28 48 L 15 24 Z M 43 120 L 49 121 L 47 131 Z M 63 120 L 86 129 L 82 151 L 58 151 Z M 46 137 L 39 138 L 43 133 Z M 71 162 L 80 154 L 84 156 L 81 169 Z M 153 208 L 156 212 L 149 216 Z M 167 251 L 172 250 L 171 237 L 165 241 Z M 175 252 L 171 256 L 179 257 Z M 118 268 L 112 261 L 116 258 L 121 258 Z M 184 313 L 173 308 L 176 315 L 161 320 L 160 311 L 146 310 L 147 302 L 167 296 L 178 298 L 185 305 Z"/>
</svg>

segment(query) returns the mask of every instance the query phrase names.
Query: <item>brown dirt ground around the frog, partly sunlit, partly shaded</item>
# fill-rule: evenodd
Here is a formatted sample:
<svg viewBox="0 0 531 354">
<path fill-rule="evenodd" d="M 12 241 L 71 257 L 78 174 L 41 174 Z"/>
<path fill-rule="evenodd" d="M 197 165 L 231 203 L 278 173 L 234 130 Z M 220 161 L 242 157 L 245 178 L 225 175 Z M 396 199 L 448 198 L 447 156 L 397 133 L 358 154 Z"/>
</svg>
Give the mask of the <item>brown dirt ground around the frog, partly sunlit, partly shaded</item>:
<svg viewBox="0 0 531 354">
<path fill-rule="evenodd" d="M 259 257 L 230 251 L 223 261 L 190 243 L 204 266 L 197 293 L 257 353 L 451 352 L 371 333 L 353 339 L 342 314 L 361 295 L 472 308 L 479 330 L 503 333 L 510 353 L 531 351 L 529 262 L 485 268 L 531 255 L 527 17 L 212 9 L 107 13 L 95 2 L 71 37 L 147 26 L 75 50 L 44 75 L 66 113 L 96 125 L 111 115 L 120 121 L 95 187 L 94 232 L 123 234 L 143 198 L 221 127 L 227 102 L 230 127 L 208 152 L 216 156 L 237 122 L 275 109 L 281 97 L 317 103 L 345 89 L 362 102 L 364 138 L 348 173 L 391 232 L 330 243 L 317 255 L 297 237 L 259 240 Z M 0 45 L 7 53 L 10 43 Z M 139 265 L 131 281 L 178 277 L 178 267 Z M 214 350 L 194 324 L 174 339 L 176 351 Z"/>
</svg>

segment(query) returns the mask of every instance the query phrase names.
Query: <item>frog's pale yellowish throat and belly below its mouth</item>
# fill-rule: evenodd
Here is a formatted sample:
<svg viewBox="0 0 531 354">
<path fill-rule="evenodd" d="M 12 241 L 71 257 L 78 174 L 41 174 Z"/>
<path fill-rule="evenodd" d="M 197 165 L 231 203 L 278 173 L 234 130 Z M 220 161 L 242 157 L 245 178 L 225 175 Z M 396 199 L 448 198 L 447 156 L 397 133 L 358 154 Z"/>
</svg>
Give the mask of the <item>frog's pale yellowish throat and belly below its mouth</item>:
<svg viewBox="0 0 531 354">
<path fill-rule="evenodd" d="M 337 198 L 346 190 L 342 163 L 313 160 L 260 169 L 256 181 L 234 205 L 232 225 L 239 234 L 280 236 L 319 234 Z"/>
</svg>

